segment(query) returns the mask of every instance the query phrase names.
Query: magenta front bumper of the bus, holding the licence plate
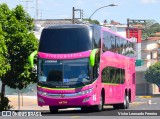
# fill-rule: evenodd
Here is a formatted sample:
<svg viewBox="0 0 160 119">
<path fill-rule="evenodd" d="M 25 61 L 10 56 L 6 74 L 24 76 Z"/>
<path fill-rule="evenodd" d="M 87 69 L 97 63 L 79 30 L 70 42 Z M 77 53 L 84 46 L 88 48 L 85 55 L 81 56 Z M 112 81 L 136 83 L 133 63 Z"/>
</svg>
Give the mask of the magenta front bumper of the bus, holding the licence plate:
<svg viewBox="0 0 160 119">
<path fill-rule="evenodd" d="M 79 107 L 96 105 L 96 103 L 96 95 L 92 93 L 69 98 L 65 97 L 63 94 L 58 98 L 38 94 L 39 106 Z"/>
</svg>

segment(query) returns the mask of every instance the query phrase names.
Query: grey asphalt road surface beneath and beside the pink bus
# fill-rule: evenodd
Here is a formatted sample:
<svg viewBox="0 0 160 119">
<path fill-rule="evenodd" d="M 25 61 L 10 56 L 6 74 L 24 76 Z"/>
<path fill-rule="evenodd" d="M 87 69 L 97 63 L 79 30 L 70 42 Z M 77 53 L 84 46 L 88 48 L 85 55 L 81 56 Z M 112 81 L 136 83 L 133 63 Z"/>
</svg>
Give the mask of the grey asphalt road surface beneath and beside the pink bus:
<svg viewBox="0 0 160 119">
<path fill-rule="evenodd" d="M 12 119 L 18 118 L 30 118 L 30 119 L 159 119 L 160 118 L 160 97 L 155 98 L 137 98 L 137 103 L 130 105 L 127 110 L 114 110 L 111 106 L 105 106 L 102 112 L 82 112 L 80 109 L 67 109 L 60 110 L 57 114 L 51 114 L 48 110 L 42 112 L 42 117 L 12 117 Z M 145 113 L 151 114 L 151 116 L 131 116 L 130 113 Z M 158 113 L 157 113 L 158 112 Z M 123 114 L 126 114 L 125 116 Z M 159 116 L 153 116 L 153 114 Z M 128 114 L 128 115 L 127 115 Z"/>
</svg>

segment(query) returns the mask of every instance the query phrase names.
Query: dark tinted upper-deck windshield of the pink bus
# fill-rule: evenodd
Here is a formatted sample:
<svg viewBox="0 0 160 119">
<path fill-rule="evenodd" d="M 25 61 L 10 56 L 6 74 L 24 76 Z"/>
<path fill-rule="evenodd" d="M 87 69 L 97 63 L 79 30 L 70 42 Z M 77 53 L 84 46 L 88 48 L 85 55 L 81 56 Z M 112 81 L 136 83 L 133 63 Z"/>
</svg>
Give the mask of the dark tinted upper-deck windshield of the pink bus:
<svg viewBox="0 0 160 119">
<path fill-rule="evenodd" d="M 92 49 L 88 27 L 62 27 L 43 29 L 39 52 L 66 54 Z"/>
</svg>

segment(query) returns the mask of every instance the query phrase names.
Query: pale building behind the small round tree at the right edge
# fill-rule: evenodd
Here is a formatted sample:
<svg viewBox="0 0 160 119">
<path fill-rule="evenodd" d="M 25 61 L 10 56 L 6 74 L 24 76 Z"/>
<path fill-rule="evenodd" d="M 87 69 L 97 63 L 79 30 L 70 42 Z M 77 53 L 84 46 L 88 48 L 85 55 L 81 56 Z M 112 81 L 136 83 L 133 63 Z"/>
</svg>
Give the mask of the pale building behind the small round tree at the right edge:
<svg viewBox="0 0 160 119">
<path fill-rule="evenodd" d="M 143 66 L 136 67 L 137 71 L 137 94 L 159 94 L 159 88 L 155 84 L 148 83 L 144 80 L 144 73 L 149 68 L 149 66 L 158 62 L 159 56 L 159 43 L 160 37 L 149 37 L 146 40 L 142 41 L 141 44 L 141 57 L 144 60 Z"/>
</svg>

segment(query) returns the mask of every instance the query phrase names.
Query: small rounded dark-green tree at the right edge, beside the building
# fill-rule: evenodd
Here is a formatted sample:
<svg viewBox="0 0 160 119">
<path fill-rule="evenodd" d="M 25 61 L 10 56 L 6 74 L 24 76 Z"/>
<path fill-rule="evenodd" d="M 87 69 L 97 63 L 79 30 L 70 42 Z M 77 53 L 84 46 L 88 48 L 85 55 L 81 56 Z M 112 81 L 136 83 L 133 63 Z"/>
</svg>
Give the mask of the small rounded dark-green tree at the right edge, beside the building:
<svg viewBox="0 0 160 119">
<path fill-rule="evenodd" d="M 160 87 L 160 62 L 149 67 L 145 72 L 145 80 Z"/>
</svg>

